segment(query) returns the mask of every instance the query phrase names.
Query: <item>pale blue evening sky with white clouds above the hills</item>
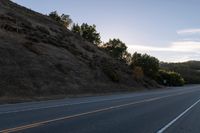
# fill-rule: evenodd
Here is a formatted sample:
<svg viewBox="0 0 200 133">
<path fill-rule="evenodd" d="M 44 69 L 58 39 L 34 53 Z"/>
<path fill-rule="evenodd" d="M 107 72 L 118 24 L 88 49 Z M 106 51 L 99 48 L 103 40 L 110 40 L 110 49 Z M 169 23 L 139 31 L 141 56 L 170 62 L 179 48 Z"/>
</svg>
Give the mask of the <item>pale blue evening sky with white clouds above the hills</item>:
<svg viewBox="0 0 200 133">
<path fill-rule="evenodd" d="M 34 11 L 95 24 L 103 42 L 119 38 L 130 53 L 165 62 L 200 60 L 200 0 L 13 0 Z"/>
</svg>

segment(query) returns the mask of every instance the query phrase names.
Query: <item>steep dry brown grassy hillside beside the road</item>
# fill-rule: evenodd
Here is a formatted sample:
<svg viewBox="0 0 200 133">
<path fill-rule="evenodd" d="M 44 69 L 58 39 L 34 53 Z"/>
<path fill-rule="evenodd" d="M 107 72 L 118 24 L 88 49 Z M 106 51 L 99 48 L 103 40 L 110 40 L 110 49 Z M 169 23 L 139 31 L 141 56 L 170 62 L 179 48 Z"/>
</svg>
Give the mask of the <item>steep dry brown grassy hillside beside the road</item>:
<svg viewBox="0 0 200 133">
<path fill-rule="evenodd" d="M 137 83 L 116 61 L 49 17 L 0 0 L 0 96 L 110 92 Z"/>
</svg>

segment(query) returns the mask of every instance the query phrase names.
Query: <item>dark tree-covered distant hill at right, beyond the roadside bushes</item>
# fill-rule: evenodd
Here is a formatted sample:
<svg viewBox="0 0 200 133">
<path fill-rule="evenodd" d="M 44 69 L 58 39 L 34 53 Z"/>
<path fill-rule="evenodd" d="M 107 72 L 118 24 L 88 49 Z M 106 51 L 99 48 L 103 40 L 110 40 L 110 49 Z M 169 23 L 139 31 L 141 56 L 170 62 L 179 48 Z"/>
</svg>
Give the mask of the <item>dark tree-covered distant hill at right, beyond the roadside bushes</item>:
<svg viewBox="0 0 200 133">
<path fill-rule="evenodd" d="M 172 70 L 180 73 L 186 83 L 200 83 L 200 61 L 188 61 L 183 63 L 161 63 L 161 68 Z"/>
</svg>

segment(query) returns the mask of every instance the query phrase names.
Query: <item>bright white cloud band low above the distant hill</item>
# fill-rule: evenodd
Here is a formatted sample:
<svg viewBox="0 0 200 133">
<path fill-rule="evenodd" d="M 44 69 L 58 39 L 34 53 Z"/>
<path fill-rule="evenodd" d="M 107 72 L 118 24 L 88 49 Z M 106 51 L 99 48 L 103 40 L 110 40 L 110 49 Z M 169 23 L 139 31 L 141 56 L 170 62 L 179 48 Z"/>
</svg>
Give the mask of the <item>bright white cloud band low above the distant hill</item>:
<svg viewBox="0 0 200 133">
<path fill-rule="evenodd" d="M 147 53 L 167 62 L 199 60 L 200 41 L 175 41 L 164 47 L 128 45 L 128 51 L 130 53 Z"/>
</svg>

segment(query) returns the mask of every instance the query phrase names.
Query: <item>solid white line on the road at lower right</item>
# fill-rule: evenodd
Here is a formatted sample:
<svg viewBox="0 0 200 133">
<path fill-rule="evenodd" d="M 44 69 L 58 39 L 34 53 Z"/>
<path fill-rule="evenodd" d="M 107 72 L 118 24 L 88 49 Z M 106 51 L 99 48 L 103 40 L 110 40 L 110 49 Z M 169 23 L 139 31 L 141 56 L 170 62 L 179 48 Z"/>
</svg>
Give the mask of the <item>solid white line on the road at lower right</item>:
<svg viewBox="0 0 200 133">
<path fill-rule="evenodd" d="M 157 133 L 163 133 L 165 132 L 170 126 L 172 126 L 178 119 L 180 119 L 183 115 L 185 115 L 188 111 L 190 111 L 194 106 L 196 106 L 200 102 L 200 99 L 192 104 L 189 108 L 187 108 L 183 113 L 181 113 L 179 116 L 177 116 L 175 119 L 173 119 L 171 122 L 169 122 L 166 126 L 161 128 Z"/>
</svg>

